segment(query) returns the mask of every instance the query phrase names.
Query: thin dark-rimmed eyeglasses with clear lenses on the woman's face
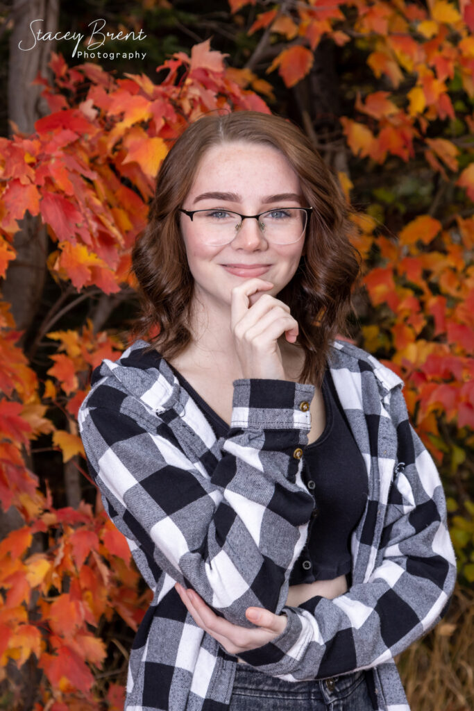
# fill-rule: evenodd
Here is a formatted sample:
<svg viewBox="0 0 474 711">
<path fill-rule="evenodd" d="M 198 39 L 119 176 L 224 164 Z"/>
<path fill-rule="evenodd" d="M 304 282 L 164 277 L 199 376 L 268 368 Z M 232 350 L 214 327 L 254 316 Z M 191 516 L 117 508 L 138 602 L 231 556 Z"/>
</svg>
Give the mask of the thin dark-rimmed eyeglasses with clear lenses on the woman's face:
<svg viewBox="0 0 474 711">
<path fill-rule="evenodd" d="M 274 208 L 258 215 L 241 215 L 224 208 L 179 210 L 202 230 L 203 241 L 208 245 L 227 245 L 232 242 L 246 218 L 257 220 L 269 242 L 292 245 L 303 237 L 313 208 Z"/>
</svg>

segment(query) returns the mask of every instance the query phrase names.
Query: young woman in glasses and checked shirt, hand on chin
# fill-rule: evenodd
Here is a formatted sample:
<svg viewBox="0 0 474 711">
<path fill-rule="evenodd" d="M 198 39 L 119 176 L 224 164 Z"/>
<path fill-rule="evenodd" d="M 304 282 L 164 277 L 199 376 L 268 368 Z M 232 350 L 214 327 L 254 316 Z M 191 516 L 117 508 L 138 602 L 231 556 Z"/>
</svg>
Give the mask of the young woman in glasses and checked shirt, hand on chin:
<svg viewBox="0 0 474 711">
<path fill-rule="evenodd" d="M 153 590 L 129 711 L 405 711 L 394 655 L 455 579 L 402 381 L 340 341 L 347 206 L 281 117 L 204 117 L 133 253 L 141 333 L 80 410 L 90 471 Z"/>
</svg>

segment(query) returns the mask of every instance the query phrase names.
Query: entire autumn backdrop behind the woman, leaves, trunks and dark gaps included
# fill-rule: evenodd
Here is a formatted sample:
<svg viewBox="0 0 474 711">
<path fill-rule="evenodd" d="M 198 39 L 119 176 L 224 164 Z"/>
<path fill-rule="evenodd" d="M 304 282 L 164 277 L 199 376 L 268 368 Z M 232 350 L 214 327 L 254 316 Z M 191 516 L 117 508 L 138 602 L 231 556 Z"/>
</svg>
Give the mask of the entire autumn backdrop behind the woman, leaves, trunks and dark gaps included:
<svg viewBox="0 0 474 711">
<path fill-rule="evenodd" d="M 169 144 L 200 114 L 245 108 L 298 124 L 355 210 L 350 338 L 404 378 L 458 556 L 448 616 L 399 667 L 417 711 L 473 708 L 473 4 L 11 0 L 0 13 L 0 708 L 122 708 L 149 592 L 75 417 L 92 368 L 131 338 L 129 252 Z M 82 52 L 98 18 L 146 38 L 108 41 L 113 60 L 72 57 L 64 39 L 22 53 L 36 18 L 82 33 Z"/>
</svg>

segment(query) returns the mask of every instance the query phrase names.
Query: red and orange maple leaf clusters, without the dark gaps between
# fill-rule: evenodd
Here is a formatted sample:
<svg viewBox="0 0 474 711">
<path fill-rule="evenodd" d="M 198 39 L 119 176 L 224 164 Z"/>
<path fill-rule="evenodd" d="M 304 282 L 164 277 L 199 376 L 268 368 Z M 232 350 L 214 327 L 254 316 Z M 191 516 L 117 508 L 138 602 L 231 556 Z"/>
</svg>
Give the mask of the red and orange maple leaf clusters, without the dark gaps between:
<svg viewBox="0 0 474 711">
<path fill-rule="evenodd" d="M 259 6 L 230 1 L 234 16 L 248 5 Z M 285 6 L 262 4 L 249 28 L 284 43 L 267 73 L 277 70 L 286 87 L 296 85 L 311 71 L 321 38 L 330 38 L 340 48 L 352 43 L 375 87 L 357 93 L 352 114 L 340 118 L 352 154 L 350 176 L 340 173 L 340 182 L 358 205 L 353 239 L 365 260 L 360 343 L 404 378 L 411 419 L 445 479 L 460 572 L 472 582 L 466 457 L 474 424 L 474 4 Z M 173 55 L 158 68 L 157 83 L 145 75 L 117 79 L 95 63 L 69 68 L 60 55 L 50 66 L 54 84 L 38 79 L 50 115 L 31 136 L 0 138 L 0 274 L 15 260 L 13 238 L 28 210 L 47 226 L 54 245 L 48 269 L 58 283 L 77 292 L 133 289 L 131 245 L 173 140 L 207 112 L 269 112 L 259 94 L 271 102 L 271 85 L 227 66 L 209 41 L 190 56 Z M 384 167 L 410 169 L 419 201 L 407 209 L 399 183 L 384 183 Z M 360 176 L 371 171 L 379 180 L 362 195 Z M 436 184 L 431 203 L 421 193 L 427 182 Z M 77 410 L 92 368 L 117 358 L 124 338 L 97 333 L 90 322 L 50 331 L 57 349 L 40 378 L 18 346 L 5 302 L 0 329 L 0 503 L 23 520 L 0 542 L 0 707 L 22 708 L 15 670 L 30 663 L 35 711 L 119 710 L 123 686 L 104 684 L 100 670 L 126 651 L 113 635 L 105 643 L 104 626 L 122 619 L 136 629 L 150 594 L 100 499 L 56 508 L 31 470 L 31 447 L 50 437 L 63 461 L 87 476 Z"/>
</svg>

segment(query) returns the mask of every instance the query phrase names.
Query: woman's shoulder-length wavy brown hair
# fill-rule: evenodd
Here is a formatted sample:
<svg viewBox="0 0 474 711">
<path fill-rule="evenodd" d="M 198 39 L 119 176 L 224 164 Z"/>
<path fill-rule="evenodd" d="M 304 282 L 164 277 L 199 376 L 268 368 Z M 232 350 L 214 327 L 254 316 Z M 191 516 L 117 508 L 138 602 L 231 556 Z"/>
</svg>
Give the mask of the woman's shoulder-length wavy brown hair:
<svg viewBox="0 0 474 711">
<path fill-rule="evenodd" d="M 190 191 L 200 159 L 210 146 L 230 141 L 273 146 L 298 175 L 301 192 L 313 213 L 306 228 L 305 253 L 289 284 L 278 294 L 298 321 L 297 343 L 305 360 L 301 382 L 321 383 L 328 349 L 346 333 L 352 285 L 360 272 L 360 255 L 350 243 L 349 206 L 338 182 L 301 130 L 274 114 L 239 111 L 207 115 L 173 144 L 156 178 L 149 223 L 132 251 L 139 283 L 141 316 L 135 336 L 146 336 L 164 358 L 188 346 L 187 321 L 193 300 L 193 277 L 181 237 L 178 208 Z"/>
</svg>

